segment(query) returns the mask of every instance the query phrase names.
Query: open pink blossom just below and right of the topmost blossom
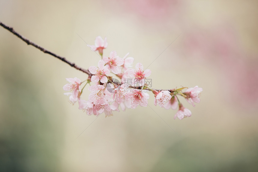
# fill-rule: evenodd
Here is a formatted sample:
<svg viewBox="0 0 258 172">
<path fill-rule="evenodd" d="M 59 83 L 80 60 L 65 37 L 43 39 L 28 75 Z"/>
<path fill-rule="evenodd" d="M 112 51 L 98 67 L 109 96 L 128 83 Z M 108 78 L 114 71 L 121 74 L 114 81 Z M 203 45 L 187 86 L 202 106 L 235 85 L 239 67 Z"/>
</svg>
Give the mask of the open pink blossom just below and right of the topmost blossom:
<svg viewBox="0 0 258 172">
<path fill-rule="evenodd" d="M 119 57 L 116 53 L 116 51 L 111 51 L 109 57 L 104 56 L 103 57 L 104 62 L 107 63 L 105 67 L 108 69 L 111 69 L 111 71 L 114 74 L 119 74 L 121 72 L 121 69 L 119 66 L 124 64 L 124 59 Z"/>
</svg>

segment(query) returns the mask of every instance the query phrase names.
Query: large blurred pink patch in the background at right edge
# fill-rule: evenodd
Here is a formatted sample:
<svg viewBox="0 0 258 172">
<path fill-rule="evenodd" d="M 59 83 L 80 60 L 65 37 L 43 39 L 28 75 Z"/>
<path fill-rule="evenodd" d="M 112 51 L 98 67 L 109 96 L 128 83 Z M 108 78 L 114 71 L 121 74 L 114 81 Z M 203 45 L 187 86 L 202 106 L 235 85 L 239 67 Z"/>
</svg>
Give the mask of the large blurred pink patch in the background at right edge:
<svg viewBox="0 0 258 172">
<path fill-rule="evenodd" d="M 258 103 L 258 90 L 255 89 L 258 84 L 257 55 L 253 58 L 244 50 L 239 33 L 229 24 L 200 30 L 191 30 L 185 36 L 182 47 L 189 61 L 205 60 L 206 65 L 216 65 L 220 71 L 220 87 L 224 87 L 222 92 L 233 106 L 255 106 Z"/>
</svg>

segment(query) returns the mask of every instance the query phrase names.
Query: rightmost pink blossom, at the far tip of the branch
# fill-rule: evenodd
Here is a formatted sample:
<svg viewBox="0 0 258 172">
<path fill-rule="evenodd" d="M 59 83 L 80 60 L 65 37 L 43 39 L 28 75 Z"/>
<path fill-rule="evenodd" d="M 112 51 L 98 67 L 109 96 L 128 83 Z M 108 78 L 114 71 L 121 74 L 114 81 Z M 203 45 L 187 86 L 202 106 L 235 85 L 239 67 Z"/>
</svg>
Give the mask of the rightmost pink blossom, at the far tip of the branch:
<svg viewBox="0 0 258 172">
<path fill-rule="evenodd" d="M 193 107 L 195 107 L 195 105 L 193 104 L 193 102 L 196 103 L 200 103 L 200 94 L 202 92 L 202 88 L 199 88 L 198 86 L 195 86 L 193 88 L 188 88 L 184 94 L 186 95 L 186 100 L 188 101 L 188 103 L 192 104 Z"/>
</svg>

